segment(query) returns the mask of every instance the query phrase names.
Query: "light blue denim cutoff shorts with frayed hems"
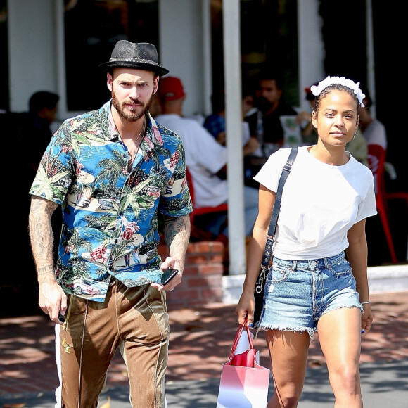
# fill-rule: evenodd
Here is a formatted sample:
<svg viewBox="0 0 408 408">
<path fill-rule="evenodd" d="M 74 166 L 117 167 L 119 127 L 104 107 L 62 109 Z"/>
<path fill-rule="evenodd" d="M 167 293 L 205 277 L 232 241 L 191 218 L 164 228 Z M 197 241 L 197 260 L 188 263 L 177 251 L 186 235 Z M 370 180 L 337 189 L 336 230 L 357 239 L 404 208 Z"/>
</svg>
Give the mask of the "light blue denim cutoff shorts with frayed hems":
<svg viewBox="0 0 408 408">
<path fill-rule="evenodd" d="M 307 331 L 313 339 L 319 318 L 340 307 L 358 307 L 363 312 L 344 252 L 307 261 L 273 257 L 265 285 L 261 329 Z"/>
</svg>

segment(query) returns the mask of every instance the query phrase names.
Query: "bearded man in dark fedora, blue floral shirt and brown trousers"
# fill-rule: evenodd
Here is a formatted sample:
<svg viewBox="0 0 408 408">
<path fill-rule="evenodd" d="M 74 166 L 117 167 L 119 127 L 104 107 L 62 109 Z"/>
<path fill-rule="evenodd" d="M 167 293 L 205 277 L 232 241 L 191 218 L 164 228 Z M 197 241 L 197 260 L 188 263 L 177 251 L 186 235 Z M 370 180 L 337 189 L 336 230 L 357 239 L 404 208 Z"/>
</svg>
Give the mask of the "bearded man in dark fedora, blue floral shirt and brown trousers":
<svg viewBox="0 0 408 408">
<path fill-rule="evenodd" d="M 184 148 L 148 113 L 168 72 L 155 46 L 121 40 L 101 68 L 112 99 L 65 120 L 30 189 L 39 305 L 59 329 L 57 405 L 96 407 L 120 348 L 132 407 L 163 408 L 170 336 L 165 291 L 181 283 L 192 210 Z M 50 222 L 58 205 L 63 229 L 54 265 Z M 158 212 L 170 247 L 164 262 Z M 169 268 L 179 273 L 163 286 Z"/>
</svg>

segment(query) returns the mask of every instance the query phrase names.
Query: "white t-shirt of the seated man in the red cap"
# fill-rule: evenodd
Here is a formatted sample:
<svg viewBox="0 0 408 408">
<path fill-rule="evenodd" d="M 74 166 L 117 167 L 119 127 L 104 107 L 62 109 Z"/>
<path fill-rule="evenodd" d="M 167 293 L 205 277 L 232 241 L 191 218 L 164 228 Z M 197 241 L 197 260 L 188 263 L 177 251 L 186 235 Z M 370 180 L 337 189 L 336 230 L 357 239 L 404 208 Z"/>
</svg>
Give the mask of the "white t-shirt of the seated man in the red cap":
<svg viewBox="0 0 408 408">
<path fill-rule="evenodd" d="M 194 119 L 165 114 L 156 116 L 155 121 L 177 133 L 183 141 L 186 166 L 193 179 L 194 206 L 215 207 L 226 203 L 227 180 L 215 174 L 227 164 L 227 148 Z"/>
</svg>

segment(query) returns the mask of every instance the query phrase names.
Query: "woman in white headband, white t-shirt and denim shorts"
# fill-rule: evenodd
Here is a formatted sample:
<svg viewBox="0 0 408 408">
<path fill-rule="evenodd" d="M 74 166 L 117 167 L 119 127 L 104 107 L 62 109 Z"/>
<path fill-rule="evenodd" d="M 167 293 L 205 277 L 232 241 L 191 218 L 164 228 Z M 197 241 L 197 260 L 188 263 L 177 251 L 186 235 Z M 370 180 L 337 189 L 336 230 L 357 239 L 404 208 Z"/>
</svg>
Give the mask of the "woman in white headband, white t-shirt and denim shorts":
<svg viewBox="0 0 408 408">
<path fill-rule="evenodd" d="M 345 151 L 359 126 L 364 94 L 344 77 L 312 87 L 312 125 L 319 139 L 298 148 L 283 189 L 271 272 L 260 328 L 265 331 L 274 376 L 268 408 L 297 407 L 307 352 L 319 333 L 335 407 L 362 407 L 359 357 L 362 333 L 371 329 L 365 219 L 376 214 L 373 177 Z M 248 270 L 236 307 L 251 325 L 275 193 L 290 149 L 281 148 L 254 177 L 259 212 L 248 247 Z M 345 252 L 347 260 L 345 260 Z"/>
</svg>

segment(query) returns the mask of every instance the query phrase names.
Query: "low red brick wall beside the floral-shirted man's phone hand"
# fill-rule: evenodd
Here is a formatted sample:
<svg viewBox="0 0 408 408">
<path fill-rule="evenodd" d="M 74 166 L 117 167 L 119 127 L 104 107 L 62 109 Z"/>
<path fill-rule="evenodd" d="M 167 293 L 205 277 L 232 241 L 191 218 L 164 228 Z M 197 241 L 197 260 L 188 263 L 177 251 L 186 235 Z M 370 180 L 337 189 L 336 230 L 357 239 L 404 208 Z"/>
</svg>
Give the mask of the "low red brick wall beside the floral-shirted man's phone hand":
<svg viewBox="0 0 408 408">
<path fill-rule="evenodd" d="M 162 260 L 169 255 L 167 246 L 160 245 Z M 189 243 L 183 281 L 167 292 L 169 309 L 203 306 L 206 303 L 222 302 L 222 252 L 221 242 Z"/>
</svg>

